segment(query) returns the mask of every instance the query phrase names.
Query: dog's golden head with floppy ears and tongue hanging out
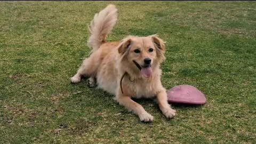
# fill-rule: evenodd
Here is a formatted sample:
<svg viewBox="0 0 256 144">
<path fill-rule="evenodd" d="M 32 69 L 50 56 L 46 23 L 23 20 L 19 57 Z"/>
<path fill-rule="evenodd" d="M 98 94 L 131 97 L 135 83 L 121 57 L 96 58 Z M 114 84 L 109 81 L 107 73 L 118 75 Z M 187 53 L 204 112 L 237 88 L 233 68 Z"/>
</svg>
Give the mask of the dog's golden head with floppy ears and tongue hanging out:
<svg viewBox="0 0 256 144">
<path fill-rule="evenodd" d="M 165 44 L 157 35 L 129 36 L 118 45 L 122 63 L 133 74 L 150 77 L 165 59 Z"/>
</svg>

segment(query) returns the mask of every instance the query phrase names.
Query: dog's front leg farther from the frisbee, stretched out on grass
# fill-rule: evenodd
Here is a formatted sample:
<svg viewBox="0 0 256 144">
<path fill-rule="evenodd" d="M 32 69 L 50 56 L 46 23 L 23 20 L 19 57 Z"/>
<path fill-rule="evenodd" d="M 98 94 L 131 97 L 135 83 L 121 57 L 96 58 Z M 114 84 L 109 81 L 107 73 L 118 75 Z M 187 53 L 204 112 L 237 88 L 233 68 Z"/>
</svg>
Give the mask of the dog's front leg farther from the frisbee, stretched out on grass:
<svg viewBox="0 0 256 144">
<path fill-rule="evenodd" d="M 140 121 L 153 121 L 154 117 L 148 114 L 147 111 L 139 103 L 133 101 L 131 97 L 126 96 L 122 93 L 118 93 L 116 100 L 117 102 L 119 102 L 120 105 L 126 107 L 128 110 L 131 110 L 134 114 L 138 115 Z"/>
</svg>

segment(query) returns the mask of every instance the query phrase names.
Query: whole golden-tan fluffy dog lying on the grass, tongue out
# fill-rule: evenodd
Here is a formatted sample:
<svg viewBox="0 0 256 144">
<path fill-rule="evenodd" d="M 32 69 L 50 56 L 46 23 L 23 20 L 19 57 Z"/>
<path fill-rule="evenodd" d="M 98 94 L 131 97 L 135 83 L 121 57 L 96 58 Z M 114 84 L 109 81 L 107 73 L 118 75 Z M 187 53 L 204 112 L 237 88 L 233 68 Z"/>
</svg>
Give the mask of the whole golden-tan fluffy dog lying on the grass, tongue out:
<svg viewBox="0 0 256 144">
<path fill-rule="evenodd" d="M 114 94 L 120 105 L 133 111 L 144 122 L 153 121 L 154 117 L 131 98 L 156 98 L 163 114 L 172 118 L 175 110 L 167 102 L 159 68 L 165 59 L 164 42 L 156 35 L 129 36 L 121 42 L 106 42 L 116 20 L 114 5 L 108 5 L 94 15 L 88 41 L 92 54 L 83 61 L 71 82 L 79 82 L 83 75 L 90 77 L 90 84 L 94 84 L 96 79 L 98 87 Z"/>
</svg>

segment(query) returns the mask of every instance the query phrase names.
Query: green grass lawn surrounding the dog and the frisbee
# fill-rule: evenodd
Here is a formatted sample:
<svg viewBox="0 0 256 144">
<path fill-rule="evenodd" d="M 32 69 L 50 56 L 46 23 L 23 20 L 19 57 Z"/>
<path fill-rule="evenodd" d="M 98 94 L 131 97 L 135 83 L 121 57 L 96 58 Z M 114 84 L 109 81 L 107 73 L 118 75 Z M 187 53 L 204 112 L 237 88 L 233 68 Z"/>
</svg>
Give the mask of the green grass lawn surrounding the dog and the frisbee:
<svg viewBox="0 0 256 144">
<path fill-rule="evenodd" d="M 162 83 L 196 86 L 203 106 L 153 100 L 142 123 L 86 80 L 71 84 L 90 50 L 87 25 L 109 3 L 108 37 L 158 34 L 167 45 Z M 256 143 L 255 2 L 0 2 L 0 143 Z"/>
</svg>

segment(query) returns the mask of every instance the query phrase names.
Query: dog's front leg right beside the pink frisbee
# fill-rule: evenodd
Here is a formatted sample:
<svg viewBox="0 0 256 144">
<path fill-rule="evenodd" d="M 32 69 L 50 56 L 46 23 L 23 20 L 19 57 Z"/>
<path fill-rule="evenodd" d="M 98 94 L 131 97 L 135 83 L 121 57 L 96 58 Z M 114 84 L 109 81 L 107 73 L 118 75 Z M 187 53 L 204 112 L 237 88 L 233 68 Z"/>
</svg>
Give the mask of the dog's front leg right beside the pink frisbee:
<svg viewBox="0 0 256 144">
<path fill-rule="evenodd" d="M 162 90 L 157 94 L 157 102 L 159 108 L 167 118 L 172 118 L 175 116 L 176 111 L 169 105 L 167 101 L 167 93 L 165 90 Z"/>
</svg>

